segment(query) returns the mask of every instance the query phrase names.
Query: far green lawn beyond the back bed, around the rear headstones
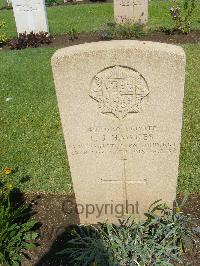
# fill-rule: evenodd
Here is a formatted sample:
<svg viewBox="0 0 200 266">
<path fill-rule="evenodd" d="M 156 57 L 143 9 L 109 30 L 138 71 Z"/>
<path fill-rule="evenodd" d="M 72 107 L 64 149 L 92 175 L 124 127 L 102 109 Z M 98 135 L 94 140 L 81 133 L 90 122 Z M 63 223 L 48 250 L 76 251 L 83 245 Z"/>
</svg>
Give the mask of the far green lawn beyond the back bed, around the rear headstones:
<svg viewBox="0 0 200 266">
<path fill-rule="evenodd" d="M 2 3 L 3 0 L 0 0 Z M 182 0 L 180 0 L 182 1 Z M 171 27 L 169 1 L 152 0 L 149 2 L 149 29 Z M 98 31 L 106 22 L 113 20 L 113 4 L 85 4 L 48 7 L 50 32 L 53 35 L 64 34 L 71 27 L 79 32 Z M 0 10 L 0 19 L 7 23 L 6 33 L 9 37 L 16 36 L 15 21 L 12 10 Z M 193 15 L 193 29 L 200 29 L 200 1 Z"/>
</svg>

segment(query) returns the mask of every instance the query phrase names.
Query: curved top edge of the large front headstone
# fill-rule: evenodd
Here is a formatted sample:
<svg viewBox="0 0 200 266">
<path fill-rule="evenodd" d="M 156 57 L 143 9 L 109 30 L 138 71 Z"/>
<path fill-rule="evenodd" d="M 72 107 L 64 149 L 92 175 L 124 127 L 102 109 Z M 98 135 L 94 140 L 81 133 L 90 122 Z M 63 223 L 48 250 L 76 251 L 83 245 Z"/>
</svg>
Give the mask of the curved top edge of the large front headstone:
<svg viewBox="0 0 200 266">
<path fill-rule="evenodd" d="M 185 60 L 185 52 L 182 47 L 167 43 L 151 42 L 151 41 L 137 41 L 137 40 L 113 40 L 113 41 L 100 41 L 85 44 L 73 45 L 57 50 L 52 58 L 52 65 L 57 64 L 58 60 L 66 56 L 72 56 L 80 53 L 106 51 L 106 50 L 120 50 L 120 49 L 138 49 L 143 51 L 163 52 L 175 54 Z"/>
</svg>

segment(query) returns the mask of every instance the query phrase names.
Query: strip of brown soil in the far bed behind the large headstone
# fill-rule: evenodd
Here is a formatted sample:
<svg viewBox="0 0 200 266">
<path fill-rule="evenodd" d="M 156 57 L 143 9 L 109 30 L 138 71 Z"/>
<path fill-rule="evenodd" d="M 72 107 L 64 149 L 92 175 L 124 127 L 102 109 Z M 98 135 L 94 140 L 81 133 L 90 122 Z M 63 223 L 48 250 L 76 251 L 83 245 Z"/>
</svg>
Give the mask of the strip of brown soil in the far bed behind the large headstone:
<svg viewBox="0 0 200 266">
<path fill-rule="evenodd" d="M 162 31 L 155 31 L 147 33 L 146 35 L 138 38 L 137 40 L 141 41 L 153 41 L 153 42 L 162 42 L 162 43 L 171 43 L 171 44 L 184 44 L 184 43 L 200 43 L 200 31 L 192 31 L 189 34 L 166 34 Z M 43 44 L 41 47 L 53 47 L 53 48 L 63 48 L 77 44 L 90 43 L 102 41 L 102 38 L 99 33 L 89 32 L 89 33 L 80 33 L 78 38 L 75 40 L 70 40 L 69 36 L 61 35 L 54 36 L 52 38 L 52 43 Z M 8 45 L 3 46 L 2 51 L 10 50 Z"/>
</svg>

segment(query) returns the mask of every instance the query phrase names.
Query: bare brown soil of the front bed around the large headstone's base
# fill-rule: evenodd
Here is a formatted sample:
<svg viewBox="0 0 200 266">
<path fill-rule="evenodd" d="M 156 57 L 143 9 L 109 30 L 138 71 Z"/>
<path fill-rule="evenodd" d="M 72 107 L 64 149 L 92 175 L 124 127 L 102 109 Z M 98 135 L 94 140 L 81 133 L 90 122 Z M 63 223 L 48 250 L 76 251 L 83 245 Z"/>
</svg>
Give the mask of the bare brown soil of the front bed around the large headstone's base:
<svg viewBox="0 0 200 266">
<path fill-rule="evenodd" d="M 178 195 L 181 202 L 182 196 Z M 23 266 L 66 266 L 66 259 L 55 255 L 65 248 L 69 225 L 79 223 L 75 210 L 73 195 L 26 195 L 26 201 L 31 202 L 33 217 L 41 224 L 39 230 L 38 247 L 29 255 L 30 261 Z M 73 206 L 73 207 L 72 207 Z M 192 214 L 200 226 L 200 194 L 192 194 L 184 208 L 185 213 Z M 199 266 L 200 250 L 186 254 L 184 265 Z"/>
</svg>

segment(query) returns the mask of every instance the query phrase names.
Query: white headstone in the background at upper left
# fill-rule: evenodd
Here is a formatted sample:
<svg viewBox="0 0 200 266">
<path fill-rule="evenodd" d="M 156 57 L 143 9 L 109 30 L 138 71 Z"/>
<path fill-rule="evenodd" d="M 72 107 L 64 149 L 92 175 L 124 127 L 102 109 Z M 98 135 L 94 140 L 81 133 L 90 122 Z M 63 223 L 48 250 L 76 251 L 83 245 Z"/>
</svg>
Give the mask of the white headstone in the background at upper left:
<svg viewBox="0 0 200 266">
<path fill-rule="evenodd" d="M 45 0 L 12 0 L 17 32 L 49 32 Z"/>
</svg>

